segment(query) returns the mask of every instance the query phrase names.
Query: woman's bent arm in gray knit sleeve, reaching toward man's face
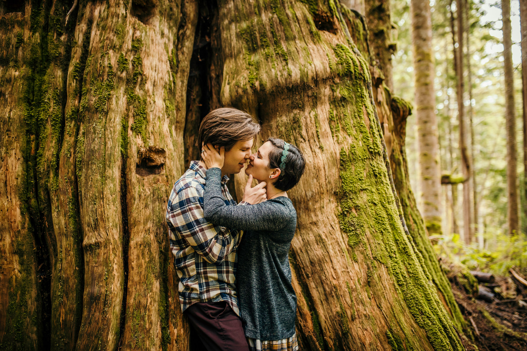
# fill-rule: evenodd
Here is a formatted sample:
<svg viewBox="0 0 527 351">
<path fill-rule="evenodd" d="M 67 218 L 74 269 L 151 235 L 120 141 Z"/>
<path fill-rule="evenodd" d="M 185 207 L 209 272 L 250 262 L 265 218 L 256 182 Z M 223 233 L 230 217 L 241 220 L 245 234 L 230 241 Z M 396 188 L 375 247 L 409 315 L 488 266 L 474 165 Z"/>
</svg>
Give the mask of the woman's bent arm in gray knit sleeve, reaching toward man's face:
<svg viewBox="0 0 527 351">
<path fill-rule="evenodd" d="M 276 201 L 246 206 L 225 204 L 221 195 L 221 170 L 209 168 L 203 194 L 204 217 L 216 225 L 241 230 L 278 230 L 287 224 L 290 211 Z"/>
</svg>

